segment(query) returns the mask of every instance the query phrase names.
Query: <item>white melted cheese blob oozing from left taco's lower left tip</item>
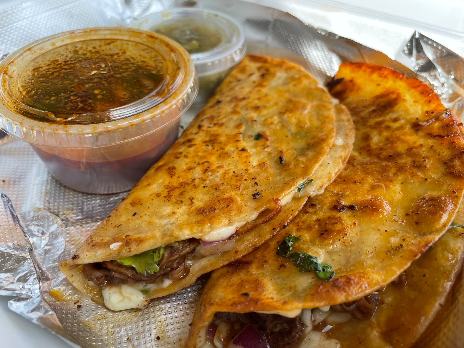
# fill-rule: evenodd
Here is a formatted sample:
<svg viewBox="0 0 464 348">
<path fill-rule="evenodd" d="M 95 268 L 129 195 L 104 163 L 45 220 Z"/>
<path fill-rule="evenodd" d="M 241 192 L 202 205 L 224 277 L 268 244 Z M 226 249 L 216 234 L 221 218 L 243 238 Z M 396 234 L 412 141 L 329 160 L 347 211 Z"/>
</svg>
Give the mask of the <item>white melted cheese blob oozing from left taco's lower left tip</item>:
<svg viewBox="0 0 464 348">
<path fill-rule="evenodd" d="M 105 306 L 113 310 L 147 307 L 149 298 L 133 285 L 110 285 L 102 290 Z"/>
</svg>

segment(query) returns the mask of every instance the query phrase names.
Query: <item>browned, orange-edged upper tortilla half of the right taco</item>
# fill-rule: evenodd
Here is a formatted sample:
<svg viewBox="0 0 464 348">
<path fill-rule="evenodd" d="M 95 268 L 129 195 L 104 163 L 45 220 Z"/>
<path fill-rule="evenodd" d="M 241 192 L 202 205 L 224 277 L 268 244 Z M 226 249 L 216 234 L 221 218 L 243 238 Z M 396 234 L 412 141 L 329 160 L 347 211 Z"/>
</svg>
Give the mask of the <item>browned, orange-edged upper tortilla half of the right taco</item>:
<svg viewBox="0 0 464 348">
<path fill-rule="evenodd" d="M 324 193 L 309 198 L 286 229 L 238 262 L 213 271 L 187 347 L 213 344 L 207 329 L 211 333 L 218 322 L 226 323 L 216 330 L 225 347 L 232 336 L 253 337 L 256 328 L 251 330 L 247 320 L 259 326 L 271 347 L 298 347 L 306 330 L 298 319 L 302 309 L 370 296 L 450 226 L 464 187 L 462 124 L 420 81 L 387 68 L 342 64 L 333 82 L 332 94 L 355 125 L 347 165 Z M 293 238 L 295 253 L 277 255 L 289 234 L 301 239 Z M 303 253 L 316 257 L 319 268 Z M 366 299 L 364 307 L 372 308 L 372 301 Z M 237 317 L 242 324 L 227 328 Z"/>
</svg>

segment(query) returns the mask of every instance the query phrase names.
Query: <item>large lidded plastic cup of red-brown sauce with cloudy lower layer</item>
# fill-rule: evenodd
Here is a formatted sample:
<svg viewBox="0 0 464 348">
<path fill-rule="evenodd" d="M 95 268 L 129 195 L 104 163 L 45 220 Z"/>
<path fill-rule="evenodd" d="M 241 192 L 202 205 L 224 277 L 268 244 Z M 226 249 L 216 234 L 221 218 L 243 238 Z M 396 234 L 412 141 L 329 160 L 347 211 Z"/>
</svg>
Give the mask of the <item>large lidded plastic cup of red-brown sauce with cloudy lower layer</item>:
<svg viewBox="0 0 464 348">
<path fill-rule="evenodd" d="M 0 127 L 86 193 L 127 191 L 177 139 L 198 90 L 173 40 L 128 28 L 49 36 L 0 63 Z"/>
</svg>

